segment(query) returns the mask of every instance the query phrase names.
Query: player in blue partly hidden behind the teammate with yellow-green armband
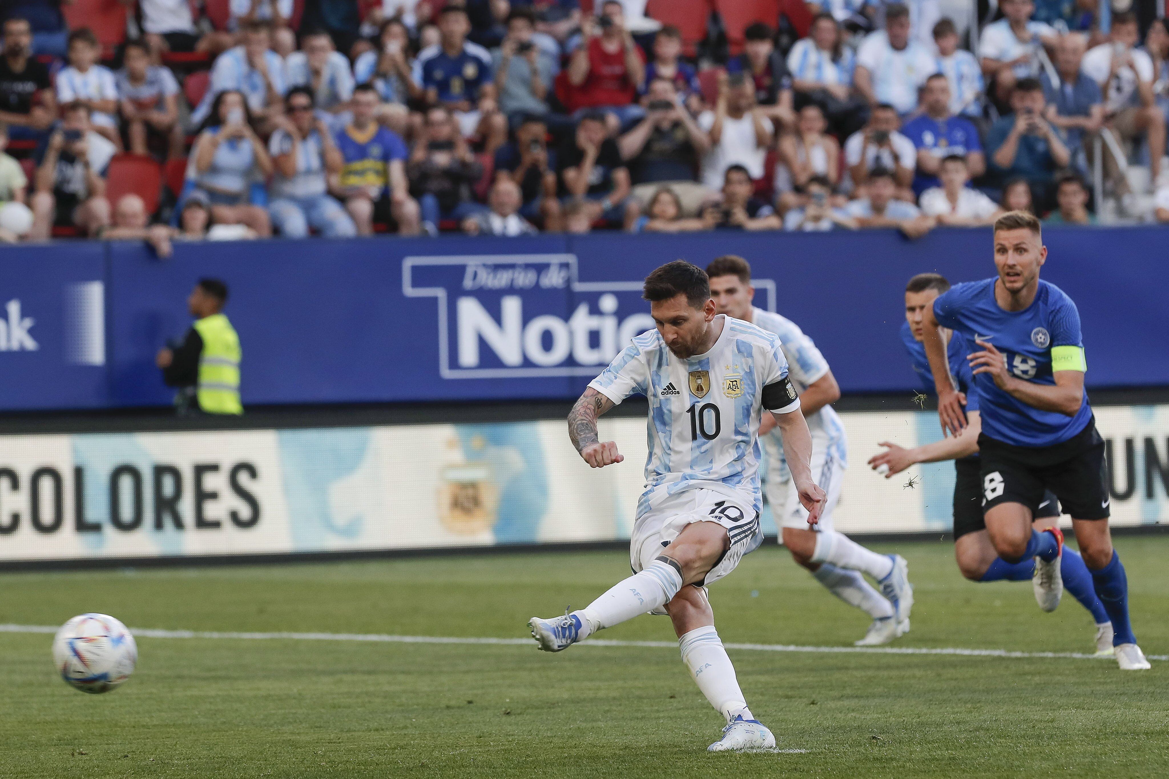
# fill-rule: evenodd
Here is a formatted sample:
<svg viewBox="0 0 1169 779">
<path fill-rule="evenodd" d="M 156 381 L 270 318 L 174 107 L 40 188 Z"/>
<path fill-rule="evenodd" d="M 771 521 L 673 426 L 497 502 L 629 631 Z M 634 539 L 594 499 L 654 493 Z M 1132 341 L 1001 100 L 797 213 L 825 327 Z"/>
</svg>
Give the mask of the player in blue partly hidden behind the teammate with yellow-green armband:
<svg viewBox="0 0 1169 779">
<path fill-rule="evenodd" d="M 926 308 L 933 306 L 938 295 L 949 288 L 949 281 L 938 273 L 919 273 L 909 279 L 905 287 L 906 322 L 901 326 L 901 341 L 913 361 L 913 370 L 921 378 L 927 392 L 934 391 L 934 375 L 929 370 L 926 349 L 921 346 L 922 320 Z M 1039 606 L 1044 611 L 1052 611 L 1058 600 L 1051 600 L 1050 589 L 1040 586 L 1042 580 L 1035 576 L 1035 561 L 1008 563 L 998 557 L 994 544 L 990 543 L 987 524 L 982 519 L 982 478 L 978 459 L 978 433 L 982 431 L 982 423 L 978 418 L 978 390 L 974 387 L 974 374 L 966 359 L 970 349 L 961 333 L 943 329 L 942 336 L 946 338 L 947 334 L 949 338 L 946 356 L 949 360 L 950 375 L 957 383 L 959 392 L 966 396 L 966 427 L 959 436 L 942 438 L 940 441 L 922 444 L 914 448 L 902 448 L 897 444 L 881 441 L 880 445 L 886 447 L 886 451 L 872 457 L 869 465 L 874 471 L 884 466 L 885 478 L 891 479 L 893 474 L 916 462 L 954 460 L 954 557 L 962 576 L 971 582 L 1032 579 Z M 1043 495 L 1043 502 L 1035 510 L 1032 527 L 1043 531 L 1058 527 L 1058 523 L 1059 501 L 1051 491 L 1047 491 Z M 1097 654 L 1112 656 L 1112 622 L 1108 621 L 1108 612 L 1104 610 L 1104 604 L 1097 597 L 1092 575 L 1084 564 L 1084 558 L 1074 549 L 1065 548 L 1059 572 L 1064 587 L 1075 596 L 1095 620 Z"/>
</svg>

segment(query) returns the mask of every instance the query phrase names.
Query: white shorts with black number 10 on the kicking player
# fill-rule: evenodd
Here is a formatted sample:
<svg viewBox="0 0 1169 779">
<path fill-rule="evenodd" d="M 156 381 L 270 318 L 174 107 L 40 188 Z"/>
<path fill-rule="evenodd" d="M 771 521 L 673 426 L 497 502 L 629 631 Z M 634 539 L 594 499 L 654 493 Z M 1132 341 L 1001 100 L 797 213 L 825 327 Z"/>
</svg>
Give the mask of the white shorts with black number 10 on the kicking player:
<svg viewBox="0 0 1169 779">
<path fill-rule="evenodd" d="M 755 551 L 763 543 L 759 512 L 752 505 L 752 499 L 746 495 L 729 498 L 725 493 L 698 487 L 666 498 L 634 523 L 629 566 L 634 573 L 639 573 L 687 524 L 715 522 L 726 528 L 731 548 L 710 570 L 703 584 L 718 582 L 735 569 L 743 555 Z"/>
</svg>

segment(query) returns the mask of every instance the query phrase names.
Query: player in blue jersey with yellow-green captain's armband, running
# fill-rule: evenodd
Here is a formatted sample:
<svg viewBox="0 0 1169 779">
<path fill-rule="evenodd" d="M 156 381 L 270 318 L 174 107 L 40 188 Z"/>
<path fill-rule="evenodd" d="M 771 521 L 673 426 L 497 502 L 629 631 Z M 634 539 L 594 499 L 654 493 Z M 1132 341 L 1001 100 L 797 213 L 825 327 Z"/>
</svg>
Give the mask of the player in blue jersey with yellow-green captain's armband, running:
<svg viewBox="0 0 1169 779">
<path fill-rule="evenodd" d="M 1112 620 L 1123 670 L 1149 667 L 1128 620 L 1128 582 L 1108 533 L 1104 440 L 1084 391 L 1080 314 L 1064 292 L 1039 280 L 1047 258 L 1039 221 L 1010 211 L 995 222 L 997 278 L 959 284 L 926 309 L 922 343 L 945 430 L 966 427 L 963 397 L 950 377 L 942 328 L 982 347 L 968 356 L 982 416 L 982 507 L 987 533 L 1009 563 L 1035 558 L 1038 587 L 1058 603 L 1064 536 L 1031 527 L 1044 492 L 1056 493 L 1097 596 Z"/>
</svg>

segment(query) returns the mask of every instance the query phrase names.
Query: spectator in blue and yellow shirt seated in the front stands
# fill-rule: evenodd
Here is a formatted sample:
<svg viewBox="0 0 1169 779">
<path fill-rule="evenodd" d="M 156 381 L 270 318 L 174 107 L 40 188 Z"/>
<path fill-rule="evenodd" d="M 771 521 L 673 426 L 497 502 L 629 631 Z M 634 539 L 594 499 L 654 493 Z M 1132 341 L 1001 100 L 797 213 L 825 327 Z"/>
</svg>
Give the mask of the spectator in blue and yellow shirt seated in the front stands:
<svg viewBox="0 0 1169 779">
<path fill-rule="evenodd" d="M 373 235 L 373 223 L 397 223 L 400 235 L 417 235 L 419 203 L 406 180 L 409 151 L 401 137 L 374 119 L 378 90 L 359 84 L 353 90 L 353 121 L 337 133 L 341 174 L 337 193 L 353 217 L 358 235 Z"/>
</svg>

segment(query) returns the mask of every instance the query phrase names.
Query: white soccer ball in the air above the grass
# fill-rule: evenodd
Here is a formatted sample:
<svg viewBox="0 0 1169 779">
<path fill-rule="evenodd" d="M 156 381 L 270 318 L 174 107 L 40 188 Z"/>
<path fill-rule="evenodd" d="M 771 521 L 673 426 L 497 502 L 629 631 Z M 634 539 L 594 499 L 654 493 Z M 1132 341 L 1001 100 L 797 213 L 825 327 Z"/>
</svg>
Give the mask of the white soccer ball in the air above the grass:
<svg viewBox="0 0 1169 779">
<path fill-rule="evenodd" d="M 53 638 L 61 679 L 83 693 L 108 693 L 130 679 L 138 646 L 126 626 L 106 614 L 81 614 Z"/>
</svg>

